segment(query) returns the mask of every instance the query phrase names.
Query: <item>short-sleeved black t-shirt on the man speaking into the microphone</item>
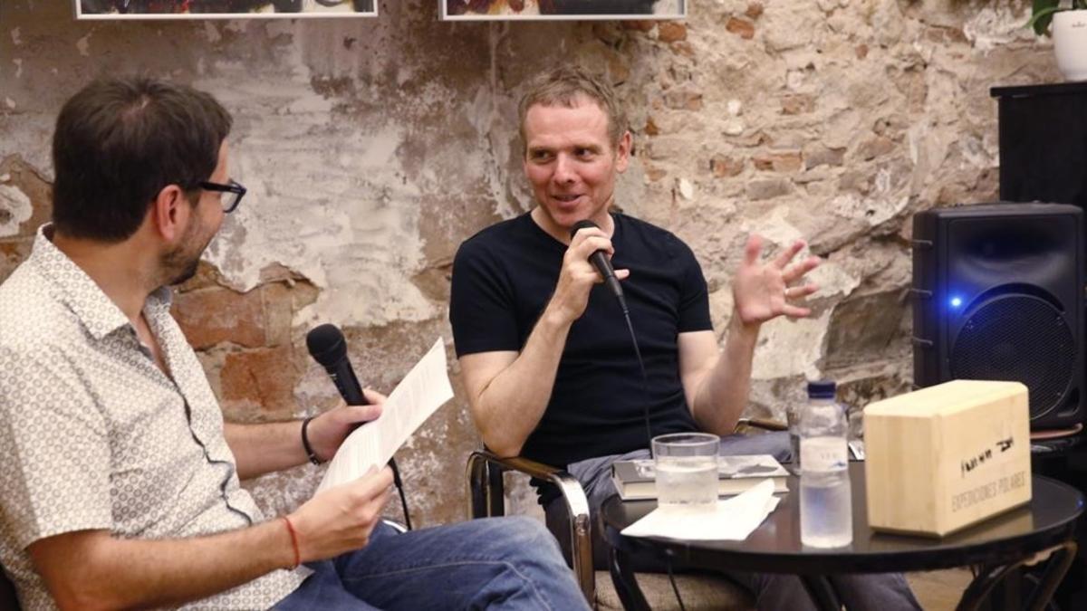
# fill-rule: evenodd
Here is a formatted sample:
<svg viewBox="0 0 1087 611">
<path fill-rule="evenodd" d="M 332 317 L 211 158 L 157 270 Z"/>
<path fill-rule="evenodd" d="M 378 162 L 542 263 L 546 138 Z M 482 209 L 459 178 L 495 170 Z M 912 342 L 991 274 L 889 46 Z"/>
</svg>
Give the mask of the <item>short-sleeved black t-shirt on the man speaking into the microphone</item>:
<svg viewBox="0 0 1087 611">
<path fill-rule="evenodd" d="M 522 456 L 552 465 L 648 447 L 653 435 L 696 431 L 679 378 L 678 335 L 712 328 L 702 270 L 679 238 L 612 214 L 616 270 L 649 379 L 642 384 L 623 311 L 603 285 L 574 322 L 554 389 Z M 457 354 L 521 351 L 559 280 L 566 246 L 529 214 L 492 225 L 461 245 L 449 320 Z"/>
</svg>

